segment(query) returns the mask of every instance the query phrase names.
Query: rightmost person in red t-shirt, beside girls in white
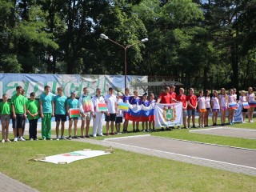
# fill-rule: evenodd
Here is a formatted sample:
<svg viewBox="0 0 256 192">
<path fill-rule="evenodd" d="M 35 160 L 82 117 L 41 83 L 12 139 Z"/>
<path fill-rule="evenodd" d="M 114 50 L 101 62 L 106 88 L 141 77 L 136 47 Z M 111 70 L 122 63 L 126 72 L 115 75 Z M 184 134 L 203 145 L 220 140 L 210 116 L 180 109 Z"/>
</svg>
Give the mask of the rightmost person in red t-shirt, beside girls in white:
<svg viewBox="0 0 256 192">
<path fill-rule="evenodd" d="M 192 123 L 193 126 L 192 128 L 197 128 L 195 126 L 195 121 L 194 121 L 194 117 L 195 117 L 195 110 L 197 109 L 198 106 L 198 98 L 196 95 L 194 95 L 194 89 L 190 88 L 190 95 L 188 95 L 186 97 L 186 101 L 187 101 L 187 114 L 188 114 L 188 118 L 187 118 L 187 126 L 190 129 L 190 118 L 192 115 Z"/>
</svg>

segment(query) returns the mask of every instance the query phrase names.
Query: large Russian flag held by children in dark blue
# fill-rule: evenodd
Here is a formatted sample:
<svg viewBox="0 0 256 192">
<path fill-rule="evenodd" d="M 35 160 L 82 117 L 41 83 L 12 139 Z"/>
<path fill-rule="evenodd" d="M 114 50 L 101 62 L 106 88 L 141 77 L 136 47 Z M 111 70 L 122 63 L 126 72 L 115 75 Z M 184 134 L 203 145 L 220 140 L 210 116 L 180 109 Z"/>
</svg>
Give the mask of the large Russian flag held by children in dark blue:
<svg viewBox="0 0 256 192">
<path fill-rule="evenodd" d="M 143 110 L 142 106 L 134 106 L 126 112 L 126 119 L 134 122 L 154 121 L 154 109 Z"/>
</svg>

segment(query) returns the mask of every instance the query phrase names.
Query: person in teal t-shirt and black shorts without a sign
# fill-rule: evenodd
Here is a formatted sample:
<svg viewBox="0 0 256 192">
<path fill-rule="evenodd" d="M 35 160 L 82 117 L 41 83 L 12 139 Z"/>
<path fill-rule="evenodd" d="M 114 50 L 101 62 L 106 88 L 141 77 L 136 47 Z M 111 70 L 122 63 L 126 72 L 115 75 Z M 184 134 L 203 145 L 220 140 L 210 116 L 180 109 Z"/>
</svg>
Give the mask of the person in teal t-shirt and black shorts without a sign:
<svg viewBox="0 0 256 192">
<path fill-rule="evenodd" d="M 54 114 L 55 114 L 55 121 L 56 121 L 56 140 L 59 140 L 58 138 L 58 130 L 59 130 L 59 124 L 62 122 L 62 135 L 61 139 L 64 138 L 64 126 L 66 122 L 66 96 L 63 94 L 62 87 L 57 88 L 58 95 L 54 97 Z"/>
</svg>

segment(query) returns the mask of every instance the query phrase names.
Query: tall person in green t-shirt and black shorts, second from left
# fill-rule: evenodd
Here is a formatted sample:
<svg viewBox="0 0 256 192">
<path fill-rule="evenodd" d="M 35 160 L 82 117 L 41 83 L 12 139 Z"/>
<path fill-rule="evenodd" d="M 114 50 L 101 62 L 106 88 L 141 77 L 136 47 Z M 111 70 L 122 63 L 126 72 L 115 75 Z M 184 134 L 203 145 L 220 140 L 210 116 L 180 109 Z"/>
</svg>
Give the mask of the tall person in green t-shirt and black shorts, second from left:
<svg viewBox="0 0 256 192">
<path fill-rule="evenodd" d="M 26 103 L 24 96 L 22 96 L 22 86 L 16 87 L 16 94 L 10 98 L 10 102 L 13 112 L 12 120 L 14 129 L 14 142 L 26 141 L 26 139 L 22 137 L 22 127 L 24 118 L 26 118 Z"/>
</svg>

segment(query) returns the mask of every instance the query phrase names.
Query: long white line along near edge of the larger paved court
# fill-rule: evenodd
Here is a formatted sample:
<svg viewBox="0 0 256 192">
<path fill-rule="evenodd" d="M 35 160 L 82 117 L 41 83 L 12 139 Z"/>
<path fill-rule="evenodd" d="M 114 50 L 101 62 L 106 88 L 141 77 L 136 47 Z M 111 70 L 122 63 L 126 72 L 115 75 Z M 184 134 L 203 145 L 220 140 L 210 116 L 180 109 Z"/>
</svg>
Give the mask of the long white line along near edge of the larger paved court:
<svg viewBox="0 0 256 192">
<path fill-rule="evenodd" d="M 106 141 L 106 142 L 108 142 L 108 141 Z M 208 158 L 198 158 L 198 157 L 194 157 L 194 156 L 190 156 L 190 155 L 186 155 L 186 154 L 176 154 L 176 153 L 172 153 L 172 152 L 168 152 L 168 151 L 164 151 L 164 150 L 153 150 L 153 149 L 145 148 L 145 147 L 141 147 L 141 146 L 130 146 L 130 145 L 126 145 L 126 144 L 122 144 L 122 143 L 118 143 L 118 142 L 109 142 L 109 143 L 118 144 L 118 145 L 122 145 L 122 146 L 134 147 L 134 148 L 138 148 L 138 149 L 142 149 L 142 150 L 152 150 L 152 151 L 160 152 L 160 153 L 164 153 L 164 154 L 174 154 L 174 155 L 178 155 L 178 156 L 182 156 L 182 157 L 186 157 L 186 158 L 195 158 L 195 159 L 200 159 L 200 160 L 204 160 L 204 161 L 208 161 L 208 162 L 220 162 L 220 161 L 216 161 L 216 160 L 212 160 L 212 159 L 208 159 Z M 234 163 L 230 163 L 230 162 L 220 162 L 220 163 L 230 165 L 230 166 L 239 166 L 239 167 L 243 167 L 243 168 L 256 170 L 256 167 L 252 167 L 252 166 L 242 166 L 242 165 L 238 165 L 238 164 L 234 164 Z"/>
</svg>

